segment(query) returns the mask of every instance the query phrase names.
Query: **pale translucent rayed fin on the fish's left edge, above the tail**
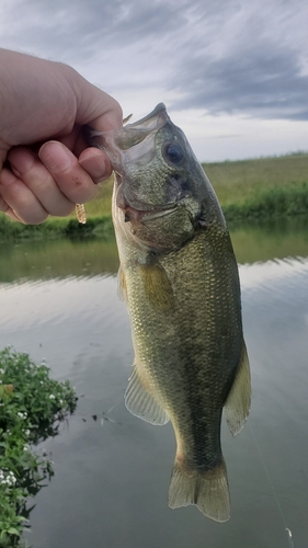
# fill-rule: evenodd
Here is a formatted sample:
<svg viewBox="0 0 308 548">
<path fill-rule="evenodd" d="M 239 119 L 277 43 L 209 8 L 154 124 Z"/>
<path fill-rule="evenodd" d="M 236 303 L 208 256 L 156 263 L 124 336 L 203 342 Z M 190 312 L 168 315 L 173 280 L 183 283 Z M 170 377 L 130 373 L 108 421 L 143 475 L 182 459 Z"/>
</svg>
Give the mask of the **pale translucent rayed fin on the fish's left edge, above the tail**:
<svg viewBox="0 0 308 548">
<path fill-rule="evenodd" d="M 153 398 L 142 381 L 135 365 L 125 392 L 125 406 L 132 414 L 151 424 L 162 425 L 169 422 L 168 413 Z"/>
</svg>

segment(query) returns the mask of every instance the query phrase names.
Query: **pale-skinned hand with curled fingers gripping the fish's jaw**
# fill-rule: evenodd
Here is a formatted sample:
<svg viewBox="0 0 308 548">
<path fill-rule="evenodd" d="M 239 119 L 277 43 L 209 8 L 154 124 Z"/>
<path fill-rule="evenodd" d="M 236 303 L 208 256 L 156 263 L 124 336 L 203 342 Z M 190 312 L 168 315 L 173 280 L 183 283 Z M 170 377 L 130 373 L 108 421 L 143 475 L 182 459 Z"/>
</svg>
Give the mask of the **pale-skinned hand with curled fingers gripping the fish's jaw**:
<svg viewBox="0 0 308 548">
<path fill-rule="evenodd" d="M 71 67 L 0 49 L 0 212 L 24 224 L 69 215 L 112 168 L 83 126 L 122 125 L 118 103 Z"/>
</svg>

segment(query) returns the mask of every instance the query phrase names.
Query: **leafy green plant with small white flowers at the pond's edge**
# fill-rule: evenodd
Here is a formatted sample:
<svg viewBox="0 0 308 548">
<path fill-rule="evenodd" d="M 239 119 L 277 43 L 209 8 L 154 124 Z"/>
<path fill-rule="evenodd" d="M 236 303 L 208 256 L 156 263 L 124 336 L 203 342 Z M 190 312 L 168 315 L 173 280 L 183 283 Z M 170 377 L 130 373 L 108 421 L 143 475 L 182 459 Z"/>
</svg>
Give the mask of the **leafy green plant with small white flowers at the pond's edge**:
<svg viewBox="0 0 308 548">
<path fill-rule="evenodd" d="M 43 481 L 54 475 L 52 463 L 33 446 L 55 436 L 60 422 L 76 409 L 68 381 L 49 377 L 45 363 L 7 347 L 0 352 L 0 548 L 18 547 Z"/>
</svg>

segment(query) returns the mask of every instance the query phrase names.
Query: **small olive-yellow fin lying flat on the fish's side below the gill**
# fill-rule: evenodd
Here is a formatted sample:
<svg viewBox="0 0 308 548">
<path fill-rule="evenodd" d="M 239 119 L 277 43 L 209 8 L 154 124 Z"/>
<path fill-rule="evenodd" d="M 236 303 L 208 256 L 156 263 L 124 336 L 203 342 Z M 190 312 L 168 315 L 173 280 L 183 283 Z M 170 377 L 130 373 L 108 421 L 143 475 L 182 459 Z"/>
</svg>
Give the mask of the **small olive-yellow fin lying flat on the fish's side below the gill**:
<svg viewBox="0 0 308 548">
<path fill-rule="evenodd" d="M 174 295 L 164 269 L 159 262 L 140 264 L 139 267 L 145 292 L 152 307 L 159 312 L 172 309 Z"/>
</svg>

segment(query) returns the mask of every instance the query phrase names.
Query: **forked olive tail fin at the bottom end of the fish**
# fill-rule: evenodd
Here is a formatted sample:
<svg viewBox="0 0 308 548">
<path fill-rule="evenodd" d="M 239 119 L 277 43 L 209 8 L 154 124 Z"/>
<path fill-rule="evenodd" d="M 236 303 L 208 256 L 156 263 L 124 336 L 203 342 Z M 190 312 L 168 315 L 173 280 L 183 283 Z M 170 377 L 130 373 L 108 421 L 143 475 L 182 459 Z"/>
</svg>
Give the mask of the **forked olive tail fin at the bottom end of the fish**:
<svg viewBox="0 0 308 548">
<path fill-rule="evenodd" d="M 227 522 L 230 518 L 230 495 L 225 461 L 213 470 L 201 472 L 187 469 L 175 459 L 168 504 L 171 509 L 195 504 L 206 517 Z"/>
</svg>

